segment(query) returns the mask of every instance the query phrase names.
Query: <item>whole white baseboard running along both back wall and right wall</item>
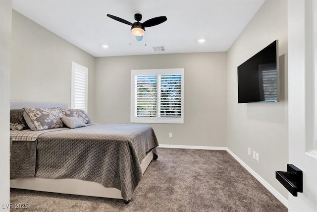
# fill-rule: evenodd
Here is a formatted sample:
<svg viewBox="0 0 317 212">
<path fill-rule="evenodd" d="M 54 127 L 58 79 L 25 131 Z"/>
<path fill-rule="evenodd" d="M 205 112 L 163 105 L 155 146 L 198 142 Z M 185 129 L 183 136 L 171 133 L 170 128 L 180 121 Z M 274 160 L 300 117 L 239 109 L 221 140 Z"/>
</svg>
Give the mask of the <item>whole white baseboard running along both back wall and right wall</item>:
<svg viewBox="0 0 317 212">
<path fill-rule="evenodd" d="M 217 146 L 191 146 L 191 145 L 169 145 L 159 144 L 160 148 L 185 148 L 185 149 L 207 149 L 207 150 L 226 150 L 234 159 L 236 159 L 250 174 L 252 174 L 274 197 L 276 197 L 286 208 L 288 208 L 288 200 L 276 191 L 270 184 L 268 184 L 260 175 L 258 175 L 250 166 L 243 162 L 237 155 L 235 155 L 227 147 Z"/>
</svg>

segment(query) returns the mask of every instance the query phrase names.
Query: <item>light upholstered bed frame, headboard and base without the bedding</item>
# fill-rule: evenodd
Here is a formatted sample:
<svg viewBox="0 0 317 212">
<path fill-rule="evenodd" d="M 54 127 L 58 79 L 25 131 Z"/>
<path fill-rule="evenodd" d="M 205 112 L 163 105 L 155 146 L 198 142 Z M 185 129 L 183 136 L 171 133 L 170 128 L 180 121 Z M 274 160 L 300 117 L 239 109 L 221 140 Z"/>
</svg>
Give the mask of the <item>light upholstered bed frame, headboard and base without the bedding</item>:
<svg viewBox="0 0 317 212">
<path fill-rule="evenodd" d="M 61 103 L 36 103 L 36 102 L 11 102 L 11 109 L 21 109 L 24 107 L 35 108 L 51 108 L 61 107 L 67 108 L 67 104 Z M 147 153 L 146 157 L 141 160 L 142 174 L 144 174 L 147 167 L 153 159 L 153 152 Z M 104 197 L 113 199 L 122 199 L 121 191 L 116 188 L 106 188 L 102 184 L 79 180 L 79 179 L 48 179 L 48 178 L 25 178 L 10 180 L 10 187 L 17 189 L 27 189 L 34 191 L 54 192 L 61 194 L 74 194 L 92 197 Z M 128 204 L 130 200 L 124 200 Z"/>
</svg>

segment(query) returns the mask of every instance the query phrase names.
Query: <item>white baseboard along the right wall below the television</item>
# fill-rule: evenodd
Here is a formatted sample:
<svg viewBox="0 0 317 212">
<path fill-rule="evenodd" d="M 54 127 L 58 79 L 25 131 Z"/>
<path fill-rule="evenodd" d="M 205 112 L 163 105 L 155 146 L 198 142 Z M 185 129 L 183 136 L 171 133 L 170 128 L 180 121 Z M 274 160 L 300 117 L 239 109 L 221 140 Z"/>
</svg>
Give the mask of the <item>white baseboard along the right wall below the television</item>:
<svg viewBox="0 0 317 212">
<path fill-rule="evenodd" d="M 258 175 L 250 166 L 243 162 L 237 155 L 227 148 L 227 152 L 236 159 L 247 171 L 249 171 L 274 197 L 276 197 L 286 208 L 288 208 L 288 200 L 268 184 L 260 175 Z"/>
</svg>

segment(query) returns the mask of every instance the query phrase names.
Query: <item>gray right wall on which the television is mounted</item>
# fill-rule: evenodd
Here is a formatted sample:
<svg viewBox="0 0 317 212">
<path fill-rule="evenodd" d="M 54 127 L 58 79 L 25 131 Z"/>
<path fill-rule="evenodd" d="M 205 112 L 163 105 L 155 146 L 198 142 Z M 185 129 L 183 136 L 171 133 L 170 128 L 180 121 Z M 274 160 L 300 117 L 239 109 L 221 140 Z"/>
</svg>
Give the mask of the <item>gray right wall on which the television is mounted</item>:
<svg viewBox="0 0 317 212">
<path fill-rule="evenodd" d="M 280 102 L 238 104 L 237 67 L 277 39 Z M 287 52 L 287 1 L 265 1 L 227 52 L 227 147 L 286 199 L 275 171 L 288 163 Z M 259 162 L 248 147 L 260 153 Z"/>
</svg>

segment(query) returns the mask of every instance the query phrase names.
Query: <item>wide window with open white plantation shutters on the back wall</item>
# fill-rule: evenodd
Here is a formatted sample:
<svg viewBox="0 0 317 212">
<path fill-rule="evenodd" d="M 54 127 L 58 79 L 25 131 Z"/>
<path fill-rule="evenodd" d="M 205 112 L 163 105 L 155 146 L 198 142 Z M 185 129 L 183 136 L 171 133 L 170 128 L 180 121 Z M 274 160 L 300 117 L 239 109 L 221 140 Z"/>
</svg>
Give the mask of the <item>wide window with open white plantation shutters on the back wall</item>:
<svg viewBox="0 0 317 212">
<path fill-rule="evenodd" d="M 131 70 L 131 122 L 184 123 L 184 69 Z"/>
</svg>

